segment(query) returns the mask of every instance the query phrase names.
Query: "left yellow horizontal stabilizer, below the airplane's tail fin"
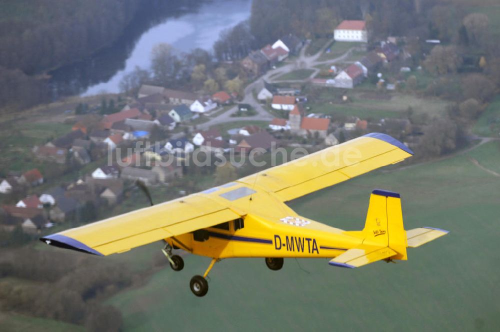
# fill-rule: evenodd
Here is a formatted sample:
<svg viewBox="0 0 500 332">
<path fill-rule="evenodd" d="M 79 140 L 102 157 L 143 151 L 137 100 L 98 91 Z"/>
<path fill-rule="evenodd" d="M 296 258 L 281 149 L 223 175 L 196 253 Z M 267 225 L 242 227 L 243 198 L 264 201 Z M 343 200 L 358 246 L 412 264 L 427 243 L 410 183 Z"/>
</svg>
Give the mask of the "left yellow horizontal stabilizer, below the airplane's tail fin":
<svg viewBox="0 0 500 332">
<path fill-rule="evenodd" d="M 331 259 L 328 264 L 340 267 L 359 267 L 397 254 L 389 247 L 353 248 Z"/>
</svg>

